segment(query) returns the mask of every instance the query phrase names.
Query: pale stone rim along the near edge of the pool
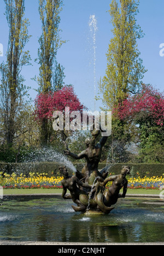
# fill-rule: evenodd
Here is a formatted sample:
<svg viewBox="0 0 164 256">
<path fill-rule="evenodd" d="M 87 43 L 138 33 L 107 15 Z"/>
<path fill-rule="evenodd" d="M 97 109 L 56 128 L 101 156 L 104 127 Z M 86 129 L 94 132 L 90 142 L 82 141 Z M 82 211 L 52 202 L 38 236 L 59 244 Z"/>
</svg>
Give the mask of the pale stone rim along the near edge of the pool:
<svg viewBox="0 0 164 256">
<path fill-rule="evenodd" d="M 0 240 L 0 245 L 51 245 L 51 246 L 126 246 L 126 245 L 164 245 L 164 243 L 60 243 L 60 242 L 19 242 L 19 241 L 2 241 Z"/>
</svg>

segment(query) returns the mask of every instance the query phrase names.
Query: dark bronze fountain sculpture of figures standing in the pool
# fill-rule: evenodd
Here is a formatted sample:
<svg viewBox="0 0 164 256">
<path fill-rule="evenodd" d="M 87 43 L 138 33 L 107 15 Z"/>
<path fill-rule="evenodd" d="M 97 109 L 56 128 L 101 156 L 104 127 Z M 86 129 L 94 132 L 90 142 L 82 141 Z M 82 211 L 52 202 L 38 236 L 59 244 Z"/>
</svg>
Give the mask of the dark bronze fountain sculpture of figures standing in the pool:
<svg viewBox="0 0 164 256">
<path fill-rule="evenodd" d="M 103 132 L 103 130 L 101 129 Z M 96 138 L 100 131 L 95 129 L 91 132 L 92 137 L 85 140 L 86 149 L 80 154 L 70 152 L 66 142 L 64 153 L 73 159 L 86 159 L 86 164 L 81 172 L 77 171 L 74 176 L 69 176 L 66 167 L 60 167 L 60 173 L 63 176 L 63 199 L 72 199 L 77 206 L 72 206 L 75 212 L 91 212 L 108 214 L 114 209 L 112 207 L 119 198 L 124 198 L 127 192 L 126 175 L 130 174 L 130 167 L 123 166 L 120 175 L 108 176 L 107 168 L 98 170 L 98 164 L 101 160 L 102 148 L 107 142 L 108 137 L 103 136 L 96 144 Z M 112 182 L 112 186 L 106 190 L 106 184 Z M 120 194 L 120 190 L 123 193 Z M 67 189 L 70 195 L 66 196 Z"/>
</svg>

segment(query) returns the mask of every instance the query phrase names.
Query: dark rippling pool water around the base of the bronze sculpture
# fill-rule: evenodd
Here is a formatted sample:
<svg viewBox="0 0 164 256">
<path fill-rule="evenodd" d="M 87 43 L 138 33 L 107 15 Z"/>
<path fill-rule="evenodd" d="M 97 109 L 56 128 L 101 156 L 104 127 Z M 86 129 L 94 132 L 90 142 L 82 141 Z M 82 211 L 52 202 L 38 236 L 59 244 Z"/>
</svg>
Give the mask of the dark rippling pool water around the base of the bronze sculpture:
<svg viewBox="0 0 164 256">
<path fill-rule="evenodd" d="M 163 242 L 163 206 L 122 200 L 109 215 L 75 213 L 71 201 L 1 201 L 0 239 L 61 242 Z"/>
</svg>

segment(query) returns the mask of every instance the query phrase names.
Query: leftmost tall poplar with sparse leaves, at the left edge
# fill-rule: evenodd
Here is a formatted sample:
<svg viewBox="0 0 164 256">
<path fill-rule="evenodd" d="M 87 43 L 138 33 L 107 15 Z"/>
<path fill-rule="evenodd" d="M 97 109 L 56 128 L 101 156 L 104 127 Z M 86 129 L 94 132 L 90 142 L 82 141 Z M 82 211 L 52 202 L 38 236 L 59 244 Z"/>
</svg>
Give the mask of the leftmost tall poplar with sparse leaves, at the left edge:
<svg viewBox="0 0 164 256">
<path fill-rule="evenodd" d="M 0 66 L 1 86 L 1 124 L 3 124 L 4 140 L 12 146 L 15 133 L 19 127 L 19 119 L 27 88 L 21 75 L 22 67 L 30 65 L 29 51 L 24 51 L 28 36 L 28 19 L 25 15 L 24 0 L 4 0 L 5 16 L 9 26 L 7 61 Z"/>
</svg>

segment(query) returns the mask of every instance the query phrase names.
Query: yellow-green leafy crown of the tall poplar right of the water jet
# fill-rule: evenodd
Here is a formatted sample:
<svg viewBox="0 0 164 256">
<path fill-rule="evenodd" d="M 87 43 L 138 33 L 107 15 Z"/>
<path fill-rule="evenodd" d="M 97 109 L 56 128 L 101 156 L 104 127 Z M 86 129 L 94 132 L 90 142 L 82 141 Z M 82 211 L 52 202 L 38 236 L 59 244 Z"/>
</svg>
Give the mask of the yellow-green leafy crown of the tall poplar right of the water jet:
<svg viewBox="0 0 164 256">
<path fill-rule="evenodd" d="M 103 94 L 103 103 L 108 109 L 121 103 L 127 93 L 136 93 L 142 83 L 143 61 L 137 48 L 137 39 L 143 37 L 143 31 L 136 24 L 139 1 L 116 0 L 110 4 L 113 38 L 107 53 L 106 75 L 99 83 Z"/>
</svg>

